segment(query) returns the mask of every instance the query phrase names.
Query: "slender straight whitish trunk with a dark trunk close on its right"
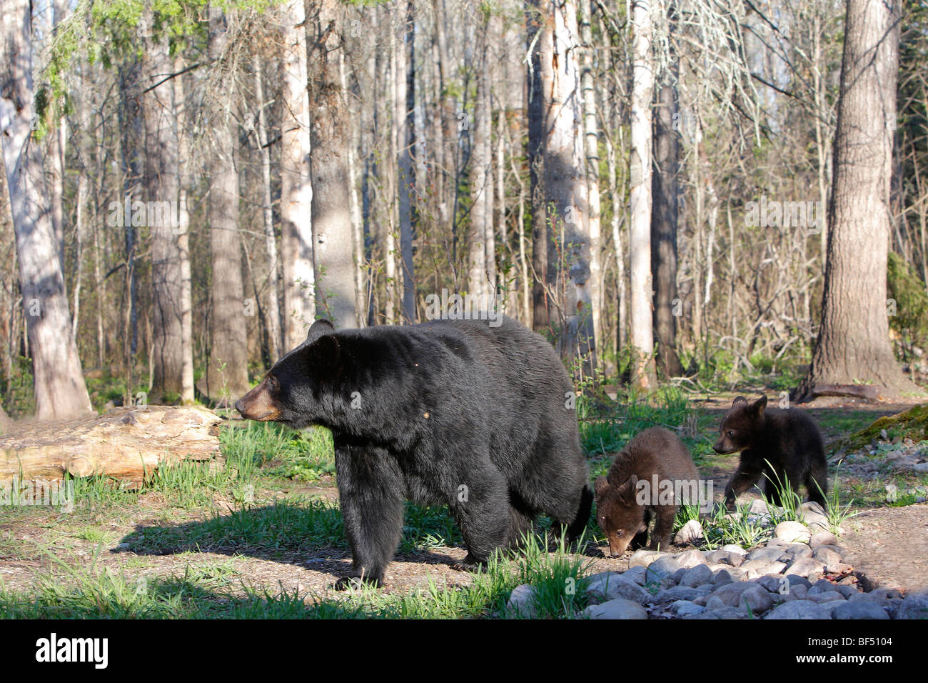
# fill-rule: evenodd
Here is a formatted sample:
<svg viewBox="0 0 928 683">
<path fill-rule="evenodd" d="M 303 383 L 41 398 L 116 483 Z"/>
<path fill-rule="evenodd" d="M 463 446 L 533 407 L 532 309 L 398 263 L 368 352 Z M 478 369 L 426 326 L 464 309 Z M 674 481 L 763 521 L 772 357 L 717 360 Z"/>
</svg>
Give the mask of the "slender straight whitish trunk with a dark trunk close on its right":
<svg viewBox="0 0 928 683">
<path fill-rule="evenodd" d="M 653 317 L 651 313 L 651 8 L 632 3 L 631 107 L 631 345 L 632 383 L 642 391 L 655 388 Z"/>
</svg>

